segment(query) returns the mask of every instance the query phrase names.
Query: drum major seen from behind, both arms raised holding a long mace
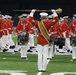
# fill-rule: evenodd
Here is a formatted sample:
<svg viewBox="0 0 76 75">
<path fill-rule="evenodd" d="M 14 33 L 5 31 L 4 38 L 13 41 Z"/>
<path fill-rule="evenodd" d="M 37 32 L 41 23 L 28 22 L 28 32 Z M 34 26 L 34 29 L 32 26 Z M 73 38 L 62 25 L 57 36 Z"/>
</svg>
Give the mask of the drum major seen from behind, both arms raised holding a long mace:
<svg viewBox="0 0 76 75">
<path fill-rule="evenodd" d="M 36 10 L 32 10 L 31 15 L 34 14 Z M 47 56 L 48 56 L 48 44 L 49 44 L 49 28 L 58 21 L 58 15 L 55 10 L 53 12 L 53 21 L 48 20 L 48 13 L 40 13 L 41 21 L 32 20 L 33 25 L 38 28 L 38 38 L 37 38 L 37 50 L 38 50 L 38 71 L 45 72 L 47 67 Z"/>
</svg>

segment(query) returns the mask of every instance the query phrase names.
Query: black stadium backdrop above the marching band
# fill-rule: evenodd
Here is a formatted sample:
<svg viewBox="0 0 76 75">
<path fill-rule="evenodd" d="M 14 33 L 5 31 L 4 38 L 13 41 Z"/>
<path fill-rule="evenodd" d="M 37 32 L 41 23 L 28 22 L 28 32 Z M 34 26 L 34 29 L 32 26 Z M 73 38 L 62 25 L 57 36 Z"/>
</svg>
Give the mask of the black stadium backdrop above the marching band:
<svg viewBox="0 0 76 75">
<path fill-rule="evenodd" d="M 62 8 L 63 12 L 59 16 L 68 15 L 72 18 L 76 14 L 76 0 L 0 0 L 1 14 L 11 15 L 17 24 L 17 16 L 24 12 L 15 12 L 13 10 L 26 10 L 26 9 L 57 9 Z M 39 13 L 35 13 L 36 19 L 39 18 Z"/>
</svg>

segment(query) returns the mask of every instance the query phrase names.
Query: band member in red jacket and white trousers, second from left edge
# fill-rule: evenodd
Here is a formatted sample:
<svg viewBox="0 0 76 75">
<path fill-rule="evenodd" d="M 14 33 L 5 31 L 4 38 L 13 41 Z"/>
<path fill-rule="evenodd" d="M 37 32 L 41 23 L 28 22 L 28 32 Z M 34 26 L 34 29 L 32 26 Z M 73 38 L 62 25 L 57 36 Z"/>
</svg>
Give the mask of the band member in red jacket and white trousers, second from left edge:
<svg viewBox="0 0 76 75">
<path fill-rule="evenodd" d="M 2 30 L 2 38 L 1 38 L 1 46 L 3 48 L 3 52 L 7 51 L 9 49 L 8 46 L 8 25 L 7 25 L 7 17 L 3 16 L 2 17 L 2 23 L 1 23 L 1 30 Z"/>
</svg>

